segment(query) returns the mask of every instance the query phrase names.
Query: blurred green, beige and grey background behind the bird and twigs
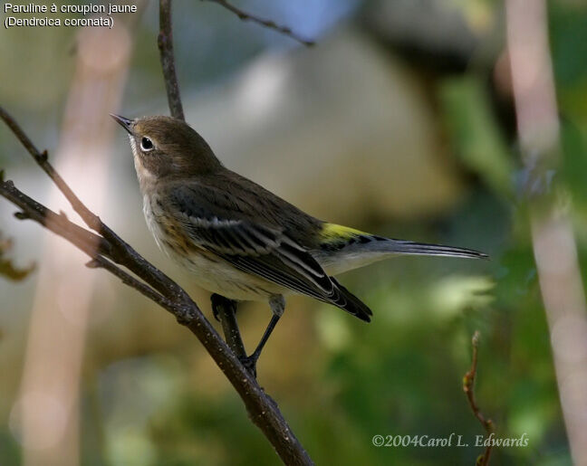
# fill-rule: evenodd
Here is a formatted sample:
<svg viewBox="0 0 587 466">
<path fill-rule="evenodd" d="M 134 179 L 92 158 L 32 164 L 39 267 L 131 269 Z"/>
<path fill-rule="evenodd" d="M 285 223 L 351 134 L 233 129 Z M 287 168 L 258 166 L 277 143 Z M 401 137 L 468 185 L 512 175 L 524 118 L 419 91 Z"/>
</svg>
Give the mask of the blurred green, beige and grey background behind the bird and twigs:
<svg viewBox="0 0 587 466">
<path fill-rule="evenodd" d="M 128 140 L 108 118 L 168 114 L 158 5 L 133 5 L 138 13 L 115 16 L 111 30 L 2 29 L 0 104 L 49 149 L 82 200 L 212 319 L 207 292 L 157 250 Z M 226 166 L 319 218 L 492 258 L 402 257 L 342 276 L 373 309 L 369 325 L 313 300 L 288 300 L 259 381 L 313 460 L 473 464 L 484 431 L 462 377 L 478 329 L 478 404 L 498 437 L 529 439 L 495 449 L 492 464 L 571 464 L 534 264 L 503 2 L 235 5 L 317 44 L 303 47 L 212 3 L 174 3 L 186 117 Z M 546 14 L 561 147 L 548 175 L 582 260 L 587 5 L 553 0 Z M 7 178 L 78 221 L 4 125 L 0 147 Z M 1 200 L 0 245 L 14 267 L 34 270 L 0 277 L 0 464 L 279 463 L 188 330 L 13 213 Z M 253 348 L 269 309 L 246 303 L 238 318 Z M 469 446 L 371 443 L 375 434 L 451 433 Z"/>
</svg>

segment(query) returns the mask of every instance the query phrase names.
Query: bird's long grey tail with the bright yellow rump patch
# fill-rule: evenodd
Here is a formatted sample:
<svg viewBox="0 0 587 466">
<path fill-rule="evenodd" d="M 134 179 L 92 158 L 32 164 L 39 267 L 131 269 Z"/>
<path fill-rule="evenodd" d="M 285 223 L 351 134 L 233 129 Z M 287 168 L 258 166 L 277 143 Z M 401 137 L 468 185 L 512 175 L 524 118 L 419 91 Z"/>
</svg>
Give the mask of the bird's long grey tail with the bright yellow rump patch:
<svg viewBox="0 0 587 466">
<path fill-rule="evenodd" d="M 324 270 L 332 275 L 358 269 L 396 254 L 467 259 L 486 259 L 488 257 L 485 252 L 473 249 L 393 240 L 334 223 L 324 223 L 320 247 L 314 252 L 316 260 L 320 262 Z"/>
</svg>

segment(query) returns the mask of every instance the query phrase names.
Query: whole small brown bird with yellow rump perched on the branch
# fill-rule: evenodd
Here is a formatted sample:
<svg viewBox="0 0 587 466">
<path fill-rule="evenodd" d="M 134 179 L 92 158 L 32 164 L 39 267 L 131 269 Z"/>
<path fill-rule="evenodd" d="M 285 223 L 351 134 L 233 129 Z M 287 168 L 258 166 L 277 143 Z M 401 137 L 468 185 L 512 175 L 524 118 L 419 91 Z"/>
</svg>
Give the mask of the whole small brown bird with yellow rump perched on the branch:
<svg viewBox="0 0 587 466">
<path fill-rule="evenodd" d="M 254 374 L 284 313 L 284 295 L 303 294 L 369 322 L 370 309 L 334 275 L 396 254 L 487 257 L 323 222 L 226 168 L 181 119 L 111 117 L 129 133 L 143 212 L 159 248 L 205 290 L 229 300 L 269 301 L 269 325 L 242 361 Z"/>
</svg>

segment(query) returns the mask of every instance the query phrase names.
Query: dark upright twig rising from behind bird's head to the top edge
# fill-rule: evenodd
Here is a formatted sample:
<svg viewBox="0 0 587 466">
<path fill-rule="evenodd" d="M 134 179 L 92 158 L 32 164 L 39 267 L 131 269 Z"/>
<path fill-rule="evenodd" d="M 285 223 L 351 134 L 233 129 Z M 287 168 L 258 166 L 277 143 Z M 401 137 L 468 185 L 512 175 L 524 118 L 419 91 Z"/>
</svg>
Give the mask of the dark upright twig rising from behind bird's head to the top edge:
<svg viewBox="0 0 587 466">
<path fill-rule="evenodd" d="M 171 27 L 171 0 L 159 0 L 159 35 L 157 37 L 159 58 L 163 68 L 165 89 L 168 94 L 171 116 L 185 119 L 181 99 L 179 98 L 178 75 L 173 54 L 173 29 Z"/>
</svg>

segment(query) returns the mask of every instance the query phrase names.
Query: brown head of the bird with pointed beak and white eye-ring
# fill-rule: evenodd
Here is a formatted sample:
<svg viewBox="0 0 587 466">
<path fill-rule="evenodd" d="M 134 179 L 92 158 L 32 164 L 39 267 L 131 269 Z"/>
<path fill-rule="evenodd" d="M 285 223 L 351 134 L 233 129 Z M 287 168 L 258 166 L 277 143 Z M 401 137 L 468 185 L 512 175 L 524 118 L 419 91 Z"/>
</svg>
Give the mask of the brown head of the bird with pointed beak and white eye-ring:
<svg viewBox="0 0 587 466">
<path fill-rule="evenodd" d="M 207 142 L 181 119 L 112 115 L 129 133 L 140 182 L 204 175 L 222 166 Z"/>
</svg>

